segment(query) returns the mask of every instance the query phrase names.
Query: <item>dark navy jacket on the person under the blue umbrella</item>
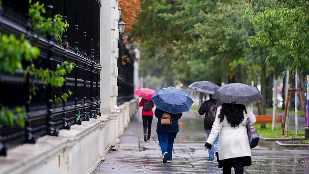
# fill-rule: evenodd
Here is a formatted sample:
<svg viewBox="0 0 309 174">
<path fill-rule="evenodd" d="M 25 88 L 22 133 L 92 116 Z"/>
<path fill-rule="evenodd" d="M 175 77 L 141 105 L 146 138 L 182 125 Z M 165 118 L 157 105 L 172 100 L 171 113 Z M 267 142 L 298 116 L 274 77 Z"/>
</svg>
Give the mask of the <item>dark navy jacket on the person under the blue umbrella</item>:
<svg viewBox="0 0 309 174">
<path fill-rule="evenodd" d="M 171 114 L 172 117 L 172 124 L 170 126 L 162 126 L 161 125 L 161 118 L 164 113 L 168 113 L 166 111 L 162 111 L 158 108 L 155 109 L 155 117 L 158 118 L 158 123 L 157 123 L 157 132 L 163 132 L 163 133 L 169 133 L 169 132 L 179 132 L 179 126 L 178 126 L 178 120 L 182 116 L 182 113 L 179 114 Z"/>
</svg>

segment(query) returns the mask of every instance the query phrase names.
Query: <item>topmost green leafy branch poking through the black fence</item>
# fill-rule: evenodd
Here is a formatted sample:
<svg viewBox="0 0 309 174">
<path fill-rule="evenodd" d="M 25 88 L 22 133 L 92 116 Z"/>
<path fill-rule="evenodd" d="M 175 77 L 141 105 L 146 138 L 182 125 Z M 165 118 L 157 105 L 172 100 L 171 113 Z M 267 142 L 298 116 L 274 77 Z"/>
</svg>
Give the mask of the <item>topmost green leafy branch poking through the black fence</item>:
<svg viewBox="0 0 309 174">
<path fill-rule="evenodd" d="M 31 4 L 32 0 L 29 0 L 29 14 L 31 17 L 32 27 L 40 36 L 45 37 L 46 33 L 54 36 L 54 38 L 62 43 L 62 34 L 67 31 L 67 27 L 70 25 L 65 21 L 63 22 L 63 16 L 57 14 L 52 18 L 45 18 L 42 13 L 46 13 L 44 4 L 36 2 Z"/>
</svg>

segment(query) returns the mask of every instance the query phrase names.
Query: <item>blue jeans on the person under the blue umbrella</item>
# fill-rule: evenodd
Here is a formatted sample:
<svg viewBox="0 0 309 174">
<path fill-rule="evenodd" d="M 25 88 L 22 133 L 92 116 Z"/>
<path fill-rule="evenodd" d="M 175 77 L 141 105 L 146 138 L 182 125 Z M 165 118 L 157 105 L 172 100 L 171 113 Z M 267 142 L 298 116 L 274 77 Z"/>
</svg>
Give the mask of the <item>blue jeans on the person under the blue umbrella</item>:
<svg viewBox="0 0 309 174">
<path fill-rule="evenodd" d="M 176 138 L 177 132 L 163 133 L 158 132 L 158 140 L 162 150 L 162 155 L 164 152 L 168 153 L 167 160 L 172 160 L 173 155 L 173 144 Z"/>
</svg>

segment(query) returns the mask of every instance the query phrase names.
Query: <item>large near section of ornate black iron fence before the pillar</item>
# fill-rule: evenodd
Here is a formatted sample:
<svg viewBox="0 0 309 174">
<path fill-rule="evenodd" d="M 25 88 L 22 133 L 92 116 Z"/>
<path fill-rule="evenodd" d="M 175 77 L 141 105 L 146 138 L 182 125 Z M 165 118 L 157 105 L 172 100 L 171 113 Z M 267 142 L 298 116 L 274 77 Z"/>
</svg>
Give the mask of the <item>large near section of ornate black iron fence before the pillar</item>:
<svg viewBox="0 0 309 174">
<path fill-rule="evenodd" d="M 36 2 L 36 1 L 35 1 Z M 63 34 L 63 44 L 51 36 L 39 37 L 32 31 L 29 5 L 27 1 L 2 0 L 0 5 L 0 32 L 15 34 L 18 38 L 25 34 L 32 45 L 39 47 L 40 56 L 36 67 L 55 70 L 57 64 L 73 62 L 75 68 L 64 77 L 61 88 L 44 89 L 43 82 L 32 77 L 24 77 L 24 72 L 0 74 L 0 106 L 25 106 L 28 119 L 25 127 L 3 126 L 0 124 L 0 155 L 23 143 L 35 143 L 38 137 L 57 136 L 60 129 L 70 129 L 72 124 L 81 124 L 100 115 L 100 0 L 39 0 L 47 10 L 46 17 L 56 14 L 64 16 L 70 24 Z M 68 49 L 67 43 L 69 45 Z M 25 68 L 28 64 L 23 63 Z M 29 88 L 36 85 L 39 91 L 29 99 Z M 54 96 L 65 91 L 72 96 L 56 106 Z"/>
</svg>

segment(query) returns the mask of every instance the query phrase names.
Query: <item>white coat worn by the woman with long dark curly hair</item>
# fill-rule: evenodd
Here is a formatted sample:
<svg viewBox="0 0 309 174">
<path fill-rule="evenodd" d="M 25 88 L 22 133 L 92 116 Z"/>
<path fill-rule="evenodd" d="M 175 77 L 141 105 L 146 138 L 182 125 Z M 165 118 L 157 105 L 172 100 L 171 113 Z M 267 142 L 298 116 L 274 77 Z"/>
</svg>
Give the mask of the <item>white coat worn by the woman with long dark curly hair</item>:
<svg viewBox="0 0 309 174">
<path fill-rule="evenodd" d="M 236 126 L 231 127 L 231 124 L 227 123 L 226 117 L 220 123 L 218 117 L 221 112 L 222 106 L 218 107 L 214 124 L 211 128 L 211 133 L 207 138 L 207 143 L 213 144 L 214 140 L 219 134 L 219 159 L 231 159 L 237 157 L 251 157 L 251 148 L 249 145 L 249 138 L 247 134 L 247 119 L 249 118 L 252 124 L 256 122 L 256 117 L 251 109 L 246 106 L 247 114 L 243 112 L 243 122 Z"/>
</svg>

